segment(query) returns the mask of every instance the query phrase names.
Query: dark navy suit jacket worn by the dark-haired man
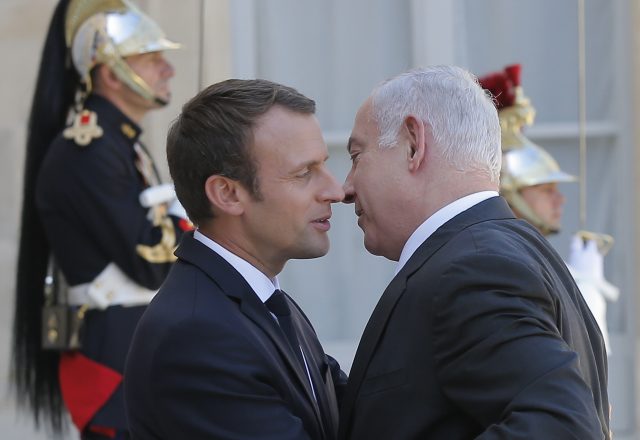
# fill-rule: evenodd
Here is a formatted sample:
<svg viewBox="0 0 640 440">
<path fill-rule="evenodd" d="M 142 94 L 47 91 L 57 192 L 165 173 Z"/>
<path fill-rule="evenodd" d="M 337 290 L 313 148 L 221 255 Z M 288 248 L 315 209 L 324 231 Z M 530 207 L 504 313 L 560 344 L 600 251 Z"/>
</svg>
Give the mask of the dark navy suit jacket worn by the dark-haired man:
<svg viewBox="0 0 640 440">
<path fill-rule="evenodd" d="M 332 439 L 346 382 L 289 298 L 311 377 L 242 276 L 186 234 L 127 359 L 134 439 Z M 333 374 L 333 376 L 332 376 Z"/>
</svg>

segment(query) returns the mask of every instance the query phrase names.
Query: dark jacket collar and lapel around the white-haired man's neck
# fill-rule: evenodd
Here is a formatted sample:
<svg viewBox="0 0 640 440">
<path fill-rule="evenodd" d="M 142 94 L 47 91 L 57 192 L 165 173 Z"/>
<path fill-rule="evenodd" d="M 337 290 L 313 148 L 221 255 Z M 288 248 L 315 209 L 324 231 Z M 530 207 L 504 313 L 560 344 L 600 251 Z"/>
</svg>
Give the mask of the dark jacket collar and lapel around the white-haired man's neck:
<svg viewBox="0 0 640 440">
<path fill-rule="evenodd" d="M 383 330 L 391 313 L 406 289 L 407 279 L 422 267 L 433 254 L 444 246 L 451 238 L 476 223 L 487 220 L 514 218 L 514 214 L 502 197 L 492 197 L 468 210 L 458 214 L 440 228 L 438 228 L 411 256 L 405 266 L 391 280 L 389 286 L 380 297 L 376 308 L 364 329 L 354 358 L 349 385 L 342 400 L 340 411 L 340 432 L 338 438 L 346 438 L 346 429 L 358 396 L 360 386 L 364 380 L 367 368 L 373 357 Z"/>
</svg>

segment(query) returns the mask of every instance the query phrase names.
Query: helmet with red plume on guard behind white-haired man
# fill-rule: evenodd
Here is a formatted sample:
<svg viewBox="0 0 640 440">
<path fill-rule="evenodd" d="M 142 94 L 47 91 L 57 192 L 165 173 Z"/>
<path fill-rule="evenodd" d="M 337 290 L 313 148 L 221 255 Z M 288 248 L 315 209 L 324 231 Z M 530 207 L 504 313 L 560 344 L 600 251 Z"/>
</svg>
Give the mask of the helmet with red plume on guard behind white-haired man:
<svg viewBox="0 0 640 440">
<path fill-rule="evenodd" d="M 507 66 L 504 71 L 478 78 L 491 92 L 498 109 L 502 132 L 502 169 L 500 193 L 526 220 L 547 234 L 554 231 L 528 205 L 520 190 L 543 183 L 573 182 L 576 178 L 560 169 L 558 162 L 541 146 L 522 133 L 533 124 L 535 109 L 520 85 L 521 66 Z"/>
</svg>

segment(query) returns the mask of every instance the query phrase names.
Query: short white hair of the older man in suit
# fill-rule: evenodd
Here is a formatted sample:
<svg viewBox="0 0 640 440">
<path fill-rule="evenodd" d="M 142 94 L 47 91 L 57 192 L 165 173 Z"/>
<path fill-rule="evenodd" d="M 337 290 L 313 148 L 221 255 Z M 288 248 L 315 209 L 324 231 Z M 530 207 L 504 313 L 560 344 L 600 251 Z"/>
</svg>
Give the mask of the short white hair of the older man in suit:
<svg viewBox="0 0 640 440">
<path fill-rule="evenodd" d="M 415 69 L 387 80 L 371 94 L 381 148 L 398 144 L 409 115 L 423 121 L 442 157 L 460 171 L 500 178 L 500 122 L 492 98 L 471 73 L 455 66 Z"/>
</svg>

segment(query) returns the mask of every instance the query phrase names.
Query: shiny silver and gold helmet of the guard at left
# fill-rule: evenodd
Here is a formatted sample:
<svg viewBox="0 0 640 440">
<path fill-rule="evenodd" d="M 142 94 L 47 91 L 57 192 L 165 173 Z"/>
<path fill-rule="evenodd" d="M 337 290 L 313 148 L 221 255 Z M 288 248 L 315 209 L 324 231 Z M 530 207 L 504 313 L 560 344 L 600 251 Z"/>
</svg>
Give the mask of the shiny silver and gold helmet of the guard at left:
<svg viewBox="0 0 640 440">
<path fill-rule="evenodd" d="M 87 90 L 91 90 L 91 70 L 98 64 L 106 64 L 140 96 L 166 104 L 124 58 L 177 49 L 180 44 L 168 40 L 158 24 L 129 0 L 71 0 L 65 20 L 65 40 Z"/>
</svg>

